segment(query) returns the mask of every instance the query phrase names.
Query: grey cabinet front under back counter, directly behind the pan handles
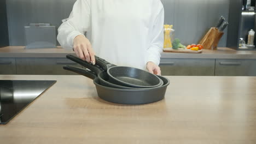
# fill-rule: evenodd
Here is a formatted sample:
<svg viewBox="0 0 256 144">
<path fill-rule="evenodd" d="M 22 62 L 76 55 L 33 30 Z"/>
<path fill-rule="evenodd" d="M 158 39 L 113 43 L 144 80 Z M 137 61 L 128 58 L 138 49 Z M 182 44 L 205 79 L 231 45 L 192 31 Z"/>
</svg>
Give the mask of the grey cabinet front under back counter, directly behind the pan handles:
<svg viewBox="0 0 256 144">
<path fill-rule="evenodd" d="M 19 75 L 76 75 L 64 70 L 64 65 L 81 66 L 66 58 L 16 58 L 16 69 Z"/>
</svg>

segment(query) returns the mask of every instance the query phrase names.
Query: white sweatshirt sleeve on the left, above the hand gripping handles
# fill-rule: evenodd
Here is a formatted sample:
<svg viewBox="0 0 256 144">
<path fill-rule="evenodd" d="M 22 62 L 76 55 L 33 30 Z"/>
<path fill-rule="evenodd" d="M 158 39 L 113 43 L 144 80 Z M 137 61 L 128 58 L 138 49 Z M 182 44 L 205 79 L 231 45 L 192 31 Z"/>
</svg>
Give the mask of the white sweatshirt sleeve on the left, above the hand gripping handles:
<svg viewBox="0 0 256 144">
<path fill-rule="evenodd" d="M 66 22 L 58 28 L 57 40 L 65 49 L 73 49 L 73 40 L 77 35 L 84 35 L 91 25 L 89 0 L 77 0 Z"/>
</svg>

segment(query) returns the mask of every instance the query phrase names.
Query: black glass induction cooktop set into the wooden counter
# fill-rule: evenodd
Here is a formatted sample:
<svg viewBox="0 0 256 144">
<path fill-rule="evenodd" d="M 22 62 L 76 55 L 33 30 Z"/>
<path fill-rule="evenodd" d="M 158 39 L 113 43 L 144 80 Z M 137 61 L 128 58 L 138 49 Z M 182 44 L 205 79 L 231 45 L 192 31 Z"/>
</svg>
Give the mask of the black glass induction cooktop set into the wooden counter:
<svg viewBox="0 0 256 144">
<path fill-rule="evenodd" d="M 55 82 L 0 80 L 0 124 L 7 124 Z"/>
</svg>

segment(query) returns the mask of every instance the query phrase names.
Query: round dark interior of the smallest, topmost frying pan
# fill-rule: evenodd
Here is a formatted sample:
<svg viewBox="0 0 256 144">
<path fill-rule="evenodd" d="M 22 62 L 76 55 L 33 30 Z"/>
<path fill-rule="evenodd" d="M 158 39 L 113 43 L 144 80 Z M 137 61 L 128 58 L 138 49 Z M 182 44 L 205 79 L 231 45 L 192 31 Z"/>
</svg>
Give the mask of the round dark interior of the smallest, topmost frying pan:
<svg viewBox="0 0 256 144">
<path fill-rule="evenodd" d="M 160 82 L 157 76 L 131 67 L 113 67 L 108 70 L 108 73 L 115 79 L 132 85 L 154 86 Z"/>
</svg>

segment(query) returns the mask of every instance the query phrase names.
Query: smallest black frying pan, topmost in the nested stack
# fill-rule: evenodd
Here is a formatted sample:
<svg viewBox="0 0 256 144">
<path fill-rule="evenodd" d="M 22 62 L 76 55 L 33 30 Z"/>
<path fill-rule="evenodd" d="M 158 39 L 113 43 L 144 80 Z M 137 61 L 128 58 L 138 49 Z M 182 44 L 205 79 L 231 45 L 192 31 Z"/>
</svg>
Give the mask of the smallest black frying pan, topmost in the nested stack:
<svg viewBox="0 0 256 144">
<path fill-rule="evenodd" d="M 67 55 L 67 58 L 75 60 L 77 57 Z M 149 88 L 161 85 L 160 79 L 148 71 L 132 67 L 118 67 L 97 56 L 95 56 L 95 60 L 97 65 L 104 71 L 107 71 L 110 81 L 116 85 L 137 88 Z"/>
</svg>

